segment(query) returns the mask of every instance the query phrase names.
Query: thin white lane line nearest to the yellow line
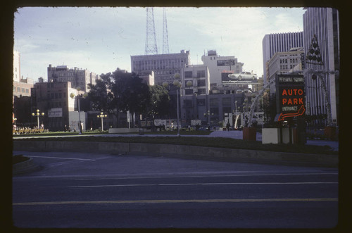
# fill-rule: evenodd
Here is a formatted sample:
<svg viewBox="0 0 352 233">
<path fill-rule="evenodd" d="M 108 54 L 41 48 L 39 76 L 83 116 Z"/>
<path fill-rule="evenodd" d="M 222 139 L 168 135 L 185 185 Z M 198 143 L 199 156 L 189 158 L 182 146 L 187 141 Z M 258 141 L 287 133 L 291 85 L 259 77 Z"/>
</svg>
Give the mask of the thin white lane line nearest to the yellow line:
<svg viewBox="0 0 352 233">
<path fill-rule="evenodd" d="M 137 186 L 182 186 L 182 185 L 238 185 L 238 184 L 339 184 L 338 182 L 264 182 L 264 183 L 194 183 L 194 184 L 106 184 L 68 186 L 66 188 L 137 187 Z"/>
</svg>

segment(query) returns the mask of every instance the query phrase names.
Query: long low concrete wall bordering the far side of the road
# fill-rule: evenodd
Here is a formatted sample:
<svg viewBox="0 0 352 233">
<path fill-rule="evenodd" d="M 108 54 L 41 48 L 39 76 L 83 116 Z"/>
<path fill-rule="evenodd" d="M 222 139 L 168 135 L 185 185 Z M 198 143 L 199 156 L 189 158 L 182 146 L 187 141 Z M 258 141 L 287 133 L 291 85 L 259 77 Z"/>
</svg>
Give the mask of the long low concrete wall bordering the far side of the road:
<svg viewBox="0 0 352 233">
<path fill-rule="evenodd" d="M 169 157 L 221 160 L 244 163 L 268 163 L 337 168 L 339 156 L 311 153 L 285 153 L 223 149 L 204 146 L 143 144 L 94 141 L 13 141 L 17 151 L 72 151 L 89 153 L 154 153 Z"/>
</svg>

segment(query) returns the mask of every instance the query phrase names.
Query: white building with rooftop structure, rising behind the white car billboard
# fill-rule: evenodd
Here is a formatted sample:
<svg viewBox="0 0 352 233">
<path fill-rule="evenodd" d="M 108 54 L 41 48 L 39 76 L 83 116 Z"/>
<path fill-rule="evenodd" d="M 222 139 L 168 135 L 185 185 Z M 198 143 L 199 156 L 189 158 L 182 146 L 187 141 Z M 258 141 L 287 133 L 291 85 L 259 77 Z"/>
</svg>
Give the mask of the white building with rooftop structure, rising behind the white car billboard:
<svg viewBox="0 0 352 233">
<path fill-rule="evenodd" d="M 234 73 L 241 73 L 244 63 L 237 61 L 234 56 L 218 56 L 216 50 L 209 50 L 208 53 L 201 56 L 203 64 L 208 66 L 210 73 L 210 86 L 221 87 L 221 73 L 224 70 L 231 70 Z"/>
</svg>

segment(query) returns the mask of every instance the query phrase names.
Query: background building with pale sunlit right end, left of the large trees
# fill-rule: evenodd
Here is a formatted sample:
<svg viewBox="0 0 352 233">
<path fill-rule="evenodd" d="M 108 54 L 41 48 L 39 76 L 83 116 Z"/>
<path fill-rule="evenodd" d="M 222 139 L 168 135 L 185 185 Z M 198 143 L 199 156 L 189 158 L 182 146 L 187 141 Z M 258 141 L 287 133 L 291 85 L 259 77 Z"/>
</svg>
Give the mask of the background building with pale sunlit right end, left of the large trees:
<svg viewBox="0 0 352 233">
<path fill-rule="evenodd" d="M 83 92 L 88 91 L 88 84 L 96 84 L 99 78 L 99 75 L 87 69 L 68 68 L 67 65 L 54 67 L 51 64 L 48 67 L 48 82 L 71 82 L 73 88 L 80 87 Z"/>
</svg>

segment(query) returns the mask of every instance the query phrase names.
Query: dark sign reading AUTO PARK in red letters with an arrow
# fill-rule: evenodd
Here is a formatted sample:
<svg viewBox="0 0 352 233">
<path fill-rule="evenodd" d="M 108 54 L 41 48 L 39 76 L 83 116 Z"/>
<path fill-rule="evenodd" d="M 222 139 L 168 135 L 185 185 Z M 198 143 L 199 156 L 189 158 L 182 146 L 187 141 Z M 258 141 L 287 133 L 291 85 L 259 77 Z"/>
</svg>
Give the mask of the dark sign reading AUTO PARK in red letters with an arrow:
<svg viewBox="0 0 352 233">
<path fill-rule="evenodd" d="M 303 115 L 306 111 L 304 103 L 306 93 L 303 75 L 276 76 L 277 121 Z"/>
</svg>

